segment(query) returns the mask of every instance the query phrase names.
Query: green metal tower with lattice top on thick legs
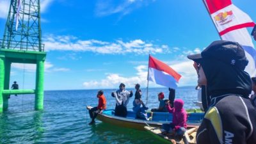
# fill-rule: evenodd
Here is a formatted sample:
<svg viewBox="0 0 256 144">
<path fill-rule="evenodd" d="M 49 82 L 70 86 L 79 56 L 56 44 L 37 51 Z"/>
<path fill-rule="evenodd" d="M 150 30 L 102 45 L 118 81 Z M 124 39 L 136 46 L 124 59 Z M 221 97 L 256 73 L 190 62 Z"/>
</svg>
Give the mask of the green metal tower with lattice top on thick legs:
<svg viewBox="0 0 256 144">
<path fill-rule="evenodd" d="M 44 108 L 44 61 L 40 0 L 11 0 L 3 40 L 0 40 L 0 112 L 8 109 L 8 95 L 35 93 L 35 109 Z M 12 63 L 36 64 L 35 90 L 9 90 Z"/>
</svg>

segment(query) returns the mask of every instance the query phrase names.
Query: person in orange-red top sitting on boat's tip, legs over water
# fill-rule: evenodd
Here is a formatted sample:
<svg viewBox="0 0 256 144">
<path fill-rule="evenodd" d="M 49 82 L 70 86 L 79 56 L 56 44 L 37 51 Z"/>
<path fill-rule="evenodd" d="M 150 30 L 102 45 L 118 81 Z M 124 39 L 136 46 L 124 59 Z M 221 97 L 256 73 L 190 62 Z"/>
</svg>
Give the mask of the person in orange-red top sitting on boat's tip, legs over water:
<svg viewBox="0 0 256 144">
<path fill-rule="evenodd" d="M 92 118 L 92 121 L 89 123 L 90 125 L 94 124 L 95 123 L 94 119 L 97 117 L 97 115 L 99 113 L 102 113 L 102 111 L 106 109 L 107 100 L 102 90 L 99 90 L 99 92 L 97 93 L 97 98 L 99 99 L 98 106 L 91 109 L 88 108 L 90 117 Z"/>
</svg>

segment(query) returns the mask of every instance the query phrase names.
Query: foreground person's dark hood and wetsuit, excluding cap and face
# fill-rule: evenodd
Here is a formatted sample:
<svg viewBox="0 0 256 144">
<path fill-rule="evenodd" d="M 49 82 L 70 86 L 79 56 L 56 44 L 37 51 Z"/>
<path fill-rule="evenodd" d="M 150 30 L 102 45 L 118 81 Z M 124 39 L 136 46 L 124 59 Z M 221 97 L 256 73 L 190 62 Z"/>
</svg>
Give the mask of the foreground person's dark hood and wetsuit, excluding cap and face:
<svg viewBox="0 0 256 144">
<path fill-rule="evenodd" d="M 196 133 L 197 144 L 255 144 L 256 108 L 249 99 L 250 76 L 244 68 L 218 60 L 200 63 L 211 103 Z"/>
</svg>

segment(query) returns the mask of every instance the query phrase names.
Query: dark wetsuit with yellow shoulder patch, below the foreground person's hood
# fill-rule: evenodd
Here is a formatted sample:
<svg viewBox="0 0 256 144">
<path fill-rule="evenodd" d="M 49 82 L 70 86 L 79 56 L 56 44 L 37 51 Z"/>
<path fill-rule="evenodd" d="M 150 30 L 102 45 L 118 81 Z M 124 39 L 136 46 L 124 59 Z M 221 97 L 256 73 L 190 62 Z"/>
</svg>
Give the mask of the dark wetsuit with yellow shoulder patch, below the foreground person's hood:
<svg viewBox="0 0 256 144">
<path fill-rule="evenodd" d="M 256 110 L 248 97 L 220 95 L 211 100 L 211 107 L 198 129 L 196 143 L 255 144 L 255 128 Z"/>
</svg>

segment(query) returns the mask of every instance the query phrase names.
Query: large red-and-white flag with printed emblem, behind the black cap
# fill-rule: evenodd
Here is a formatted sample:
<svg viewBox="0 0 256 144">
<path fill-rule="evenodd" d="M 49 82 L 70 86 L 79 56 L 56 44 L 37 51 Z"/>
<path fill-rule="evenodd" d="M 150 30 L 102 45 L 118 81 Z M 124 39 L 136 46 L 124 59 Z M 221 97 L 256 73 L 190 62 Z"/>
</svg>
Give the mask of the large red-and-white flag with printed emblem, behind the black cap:
<svg viewBox="0 0 256 144">
<path fill-rule="evenodd" d="M 205 6 L 222 40 L 238 42 L 242 45 L 249 63 L 245 71 L 251 77 L 256 76 L 256 51 L 247 27 L 253 27 L 253 20 L 231 0 L 204 0 Z"/>
</svg>

